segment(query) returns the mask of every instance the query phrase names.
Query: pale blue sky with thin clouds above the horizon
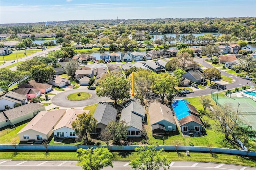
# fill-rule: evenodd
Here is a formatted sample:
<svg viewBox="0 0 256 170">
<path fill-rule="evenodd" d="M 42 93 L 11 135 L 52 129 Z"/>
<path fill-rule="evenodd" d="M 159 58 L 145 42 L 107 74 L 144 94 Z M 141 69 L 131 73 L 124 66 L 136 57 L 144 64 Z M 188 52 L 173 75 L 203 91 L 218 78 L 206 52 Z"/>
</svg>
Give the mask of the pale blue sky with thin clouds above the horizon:
<svg viewBox="0 0 256 170">
<path fill-rule="evenodd" d="M 244 16 L 256 17 L 256 0 L 0 0 L 0 24 Z"/>
</svg>

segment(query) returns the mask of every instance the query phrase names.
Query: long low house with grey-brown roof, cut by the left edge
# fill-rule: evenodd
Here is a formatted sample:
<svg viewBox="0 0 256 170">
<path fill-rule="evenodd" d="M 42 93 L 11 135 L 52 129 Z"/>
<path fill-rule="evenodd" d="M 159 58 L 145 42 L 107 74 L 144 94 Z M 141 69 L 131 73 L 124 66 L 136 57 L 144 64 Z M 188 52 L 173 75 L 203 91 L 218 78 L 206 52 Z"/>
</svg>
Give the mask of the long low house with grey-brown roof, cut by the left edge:
<svg viewBox="0 0 256 170">
<path fill-rule="evenodd" d="M 8 125 L 16 125 L 22 121 L 36 116 L 40 111 L 45 111 L 45 106 L 40 103 L 28 103 L 0 112 L 0 128 Z"/>
</svg>

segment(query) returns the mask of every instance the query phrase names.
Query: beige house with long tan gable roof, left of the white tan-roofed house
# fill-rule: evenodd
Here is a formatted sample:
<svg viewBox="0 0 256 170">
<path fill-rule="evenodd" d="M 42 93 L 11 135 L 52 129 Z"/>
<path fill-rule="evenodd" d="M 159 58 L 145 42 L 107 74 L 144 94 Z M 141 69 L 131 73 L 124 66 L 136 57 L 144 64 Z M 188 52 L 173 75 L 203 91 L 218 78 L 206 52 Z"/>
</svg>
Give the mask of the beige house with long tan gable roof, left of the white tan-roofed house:
<svg viewBox="0 0 256 170">
<path fill-rule="evenodd" d="M 40 111 L 20 132 L 20 141 L 48 140 L 52 135 L 52 129 L 56 127 L 60 119 L 66 113 L 66 109 L 54 109 Z"/>
</svg>

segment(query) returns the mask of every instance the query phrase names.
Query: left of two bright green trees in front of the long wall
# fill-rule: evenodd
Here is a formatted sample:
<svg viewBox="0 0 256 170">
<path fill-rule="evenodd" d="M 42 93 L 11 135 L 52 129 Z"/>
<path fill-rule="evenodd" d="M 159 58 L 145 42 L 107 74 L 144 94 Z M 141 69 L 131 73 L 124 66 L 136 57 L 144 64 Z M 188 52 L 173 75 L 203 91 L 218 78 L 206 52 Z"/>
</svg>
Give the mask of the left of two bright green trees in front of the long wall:
<svg viewBox="0 0 256 170">
<path fill-rule="evenodd" d="M 111 166 L 113 168 L 113 154 L 108 148 L 79 148 L 76 152 L 78 153 L 77 165 L 81 166 L 83 170 L 100 170 L 106 166 Z"/>
</svg>

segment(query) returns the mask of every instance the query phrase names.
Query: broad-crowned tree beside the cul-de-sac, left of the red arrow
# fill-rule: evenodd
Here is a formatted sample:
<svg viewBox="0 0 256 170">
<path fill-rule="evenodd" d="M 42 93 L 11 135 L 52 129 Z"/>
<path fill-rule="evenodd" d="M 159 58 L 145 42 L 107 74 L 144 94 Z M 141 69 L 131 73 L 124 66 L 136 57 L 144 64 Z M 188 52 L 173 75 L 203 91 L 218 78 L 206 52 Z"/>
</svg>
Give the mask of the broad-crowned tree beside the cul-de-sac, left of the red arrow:
<svg viewBox="0 0 256 170">
<path fill-rule="evenodd" d="M 98 97 L 110 97 L 117 104 L 118 99 L 127 99 L 129 97 L 129 90 L 130 86 L 125 77 L 108 75 L 104 80 L 100 81 L 100 85 L 96 89 L 96 94 Z"/>
</svg>

